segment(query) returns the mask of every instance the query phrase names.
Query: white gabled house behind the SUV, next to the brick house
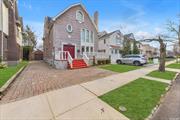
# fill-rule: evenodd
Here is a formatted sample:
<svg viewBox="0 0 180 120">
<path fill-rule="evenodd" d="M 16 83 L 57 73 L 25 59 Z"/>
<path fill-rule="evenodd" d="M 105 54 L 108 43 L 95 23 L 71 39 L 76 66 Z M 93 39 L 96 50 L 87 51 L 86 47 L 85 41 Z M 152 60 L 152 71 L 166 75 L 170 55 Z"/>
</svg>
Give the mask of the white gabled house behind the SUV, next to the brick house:
<svg viewBox="0 0 180 120">
<path fill-rule="evenodd" d="M 104 53 L 108 56 L 114 54 L 121 56 L 121 50 L 123 49 L 123 34 L 120 30 L 113 31 L 111 33 L 101 32 L 98 41 L 98 52 Z"/>
</svg>

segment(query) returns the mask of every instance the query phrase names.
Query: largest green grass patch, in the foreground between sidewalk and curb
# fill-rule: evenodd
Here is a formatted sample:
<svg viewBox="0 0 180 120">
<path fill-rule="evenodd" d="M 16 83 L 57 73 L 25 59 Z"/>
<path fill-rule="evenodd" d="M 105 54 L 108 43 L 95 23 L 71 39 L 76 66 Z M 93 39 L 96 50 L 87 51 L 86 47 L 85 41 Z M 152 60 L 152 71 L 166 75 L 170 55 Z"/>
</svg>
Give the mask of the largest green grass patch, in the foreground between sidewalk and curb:
<svg viewBox="0 0 180 120">
<path fill-rule="evenodd" d="M 157 105 L 166 87 L 165 83 L 140 78 L 99 98 L 118 111 L 119 106 L 126 107 L 127 111 L 121 113 L 128 118 L 143 120 Z"/>
</svg>

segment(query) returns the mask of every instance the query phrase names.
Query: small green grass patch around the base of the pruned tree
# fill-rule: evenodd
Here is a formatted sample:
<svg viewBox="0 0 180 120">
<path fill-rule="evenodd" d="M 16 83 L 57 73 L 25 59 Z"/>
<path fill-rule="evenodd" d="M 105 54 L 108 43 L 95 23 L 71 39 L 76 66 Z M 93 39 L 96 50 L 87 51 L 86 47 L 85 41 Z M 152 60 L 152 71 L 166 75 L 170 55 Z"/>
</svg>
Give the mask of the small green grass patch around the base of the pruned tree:
<svg viewBox="0 0 180 120">
<path fill-rule="evenodd" d="M 171 71 L 159 72 L 158 70 L 152 71 L 151 73 L 147 74 L 147 76 L 150 77 L 156 77 L 166 80 L 172 80 L 175 77 L 175 75 L 176 72 L 171 72 Z"/>
</svg>

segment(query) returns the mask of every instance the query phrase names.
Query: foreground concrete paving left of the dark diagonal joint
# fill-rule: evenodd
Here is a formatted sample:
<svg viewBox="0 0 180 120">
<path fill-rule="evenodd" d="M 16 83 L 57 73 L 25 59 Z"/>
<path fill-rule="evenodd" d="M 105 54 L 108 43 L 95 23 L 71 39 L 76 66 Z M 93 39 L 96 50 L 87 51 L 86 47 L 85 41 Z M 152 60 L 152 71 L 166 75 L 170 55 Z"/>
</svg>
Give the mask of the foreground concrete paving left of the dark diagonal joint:
<svg viewBox="0 0 180 120">
<path fill-rule="evenodd" d="M 1 120 L 128 119 L 79 85 L 1 105 L 0 112 Z"/>
</svg>

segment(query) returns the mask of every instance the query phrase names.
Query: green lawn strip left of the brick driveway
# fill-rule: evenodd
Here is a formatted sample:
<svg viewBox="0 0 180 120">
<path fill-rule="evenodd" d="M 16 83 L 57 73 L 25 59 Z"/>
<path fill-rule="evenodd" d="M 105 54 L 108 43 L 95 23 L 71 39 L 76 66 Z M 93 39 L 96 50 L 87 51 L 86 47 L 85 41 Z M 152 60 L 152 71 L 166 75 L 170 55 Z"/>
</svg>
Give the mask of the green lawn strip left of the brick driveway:
<svg viewBox="0 0 180 120">
<path fill-rule="evenodd" d="M 27 64 L 28 62 L 23 61 L 17 66 L 10 66 L 8 68 L 0 69 L 0 87 L 2 87 L 15 73 L 18 72 L 18 70 Z"/>
</svg>

